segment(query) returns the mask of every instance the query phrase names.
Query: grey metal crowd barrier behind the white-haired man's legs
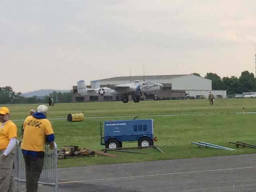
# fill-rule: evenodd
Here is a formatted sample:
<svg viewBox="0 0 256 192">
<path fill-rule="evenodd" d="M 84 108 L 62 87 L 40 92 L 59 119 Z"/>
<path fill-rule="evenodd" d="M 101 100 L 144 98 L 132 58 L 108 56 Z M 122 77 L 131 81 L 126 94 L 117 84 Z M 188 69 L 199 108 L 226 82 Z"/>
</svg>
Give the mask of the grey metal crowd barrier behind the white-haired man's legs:
<svg viewBox="0 0 256 192">
<path fill-rule="evenodd" d="M 17 180 L 17 192 L 20 189 L 20 182 L 26 182 L 26 166 L 20 148 L 21 142 L 16 143 L 16 158 L 14 159 L 14 178 Z M 52 185 L 54 191 L 58 191 L 58 180 L 57 180 L 57 145 L 55 142 L 50 146 L 46 144 L 44 146 L 44 166 L 38 184 Z"/>
</svg>

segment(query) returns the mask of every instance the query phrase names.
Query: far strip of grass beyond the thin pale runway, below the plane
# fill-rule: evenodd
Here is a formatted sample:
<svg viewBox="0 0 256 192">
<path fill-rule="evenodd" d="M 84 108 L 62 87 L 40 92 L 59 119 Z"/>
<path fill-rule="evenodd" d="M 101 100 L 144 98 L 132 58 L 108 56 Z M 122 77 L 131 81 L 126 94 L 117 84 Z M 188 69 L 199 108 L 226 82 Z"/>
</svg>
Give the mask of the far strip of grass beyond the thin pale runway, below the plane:
<svg viewBox="0 0 256 192">
<path fill-rule="evenodd" d="M 148 115 L 148 114 L 177 114 L 177 113 L 202 113 L 220 112 L 232 113 L 255 111 L 256 99 L 220 99 L 214 106 L 208 100 L 166 100 L 142 101 L 139 103 L 128 102 L 90 102 L 56 104 L 50 106 L 48 118 L 66 117 L 68 113 L 84 111 L 86 117 L 90 116 L 116 116 L 116 115 Z M 36 109 L 36 104 L 10 105 L 12 119 L 23 119 L 31 108 Z"/>
</svg>

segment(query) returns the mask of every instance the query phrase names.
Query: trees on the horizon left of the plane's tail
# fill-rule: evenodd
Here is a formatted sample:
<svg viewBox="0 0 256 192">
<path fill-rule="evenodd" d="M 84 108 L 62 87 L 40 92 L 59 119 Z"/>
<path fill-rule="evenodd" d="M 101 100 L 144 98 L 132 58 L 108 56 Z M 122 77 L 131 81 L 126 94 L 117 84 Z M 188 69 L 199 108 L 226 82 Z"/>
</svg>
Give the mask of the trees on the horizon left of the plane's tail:
<svg viewBox="0 0 256 192">
<path fill-rule="evenodd" d="M 0 104 L 48 103 L 49 98 L 53 98 L 55 103 L 70 103 L 72 102 L 72 92 L 54 91 L 44 97 L 24 97 L 21 92 L 14 92 L 10 86 L 0 87 Z"/>
</svg>

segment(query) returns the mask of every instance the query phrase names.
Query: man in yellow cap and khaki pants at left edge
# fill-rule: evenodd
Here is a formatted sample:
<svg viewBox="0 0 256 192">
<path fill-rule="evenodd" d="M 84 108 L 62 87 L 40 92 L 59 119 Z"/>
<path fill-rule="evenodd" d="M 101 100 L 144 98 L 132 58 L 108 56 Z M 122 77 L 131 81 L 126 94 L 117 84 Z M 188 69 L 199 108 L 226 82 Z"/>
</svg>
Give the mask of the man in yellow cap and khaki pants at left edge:
<svg viewBox="0 0 256 192">
<path fill-rule="evenodd" d="M 0 192 L 14 192 L 15 180 L 12 176 L 14 146 L 17 126 L 9 120 L 10 112 L 0 107 Z"/>
</svg>

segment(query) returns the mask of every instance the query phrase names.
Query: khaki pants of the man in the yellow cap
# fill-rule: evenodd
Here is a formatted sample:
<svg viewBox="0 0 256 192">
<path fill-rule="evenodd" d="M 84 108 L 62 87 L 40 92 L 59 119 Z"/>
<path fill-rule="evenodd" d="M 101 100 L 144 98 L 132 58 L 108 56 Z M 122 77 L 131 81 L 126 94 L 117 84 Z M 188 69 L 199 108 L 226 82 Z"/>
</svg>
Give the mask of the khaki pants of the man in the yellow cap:
<svg viewBox="0 0 256 192">
<path fill-rule="evenodd" d="M 14 153 L 10 152 L 3 158 L 4 150 L 0 151 L 0 192 L 15 192 L 15 180 L 12 176 Z"/>
</svg>

